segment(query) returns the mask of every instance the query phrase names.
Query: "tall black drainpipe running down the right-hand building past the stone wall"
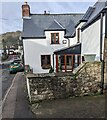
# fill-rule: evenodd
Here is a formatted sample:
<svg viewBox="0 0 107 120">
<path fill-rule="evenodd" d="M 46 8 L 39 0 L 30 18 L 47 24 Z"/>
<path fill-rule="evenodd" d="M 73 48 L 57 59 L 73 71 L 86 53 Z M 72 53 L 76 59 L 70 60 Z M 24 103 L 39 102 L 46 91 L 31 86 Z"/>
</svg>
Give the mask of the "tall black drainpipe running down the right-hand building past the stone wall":
<svg viewBox="0 0 107 120">
<path fill-rule="evenodd" d="M 100 19 L 100 61 L 101 61 L 101 91 L 100 94 L 103 94 L 104 89 L 104 60 L 102 57 L 102 43 L 103 43 L 103 13 L 101 13 Z"/>
</svg>

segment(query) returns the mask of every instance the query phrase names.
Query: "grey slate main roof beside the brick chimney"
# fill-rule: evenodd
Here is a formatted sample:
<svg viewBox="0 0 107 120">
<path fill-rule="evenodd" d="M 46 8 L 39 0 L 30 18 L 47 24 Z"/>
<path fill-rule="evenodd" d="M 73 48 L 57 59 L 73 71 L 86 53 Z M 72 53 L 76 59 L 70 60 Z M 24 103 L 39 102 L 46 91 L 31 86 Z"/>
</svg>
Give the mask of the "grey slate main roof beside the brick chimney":
<svg viewBox="0 0 107 120">
<path fill-rule="evenodd" d="M 30 18 L 23 18 L 22 37 L 45 37 L 45 30 L 65 30 L 65 37 L 71 37 L 75 25 L 83 14 L 31 14 Z"/>
</svg>

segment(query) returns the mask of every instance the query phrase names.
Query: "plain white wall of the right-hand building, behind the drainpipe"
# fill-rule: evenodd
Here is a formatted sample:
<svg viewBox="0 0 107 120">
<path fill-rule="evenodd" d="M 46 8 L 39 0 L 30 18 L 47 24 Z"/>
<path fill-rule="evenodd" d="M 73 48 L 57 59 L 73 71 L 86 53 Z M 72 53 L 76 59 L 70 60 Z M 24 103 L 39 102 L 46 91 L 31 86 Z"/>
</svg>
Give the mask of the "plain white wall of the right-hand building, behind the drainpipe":
<svg viewBox="0 0 107 120">
<path fill-rule="evenodd" d="M 103 47 L 105 37 L 105 16 L 103 17 Z M 100 60 L 100 19 L 82 32 L 82 56 L 84 54 L 96 54 L 96 61 Z M 102 51 L 103 51 L 102 50 Z"/>
</svg>

